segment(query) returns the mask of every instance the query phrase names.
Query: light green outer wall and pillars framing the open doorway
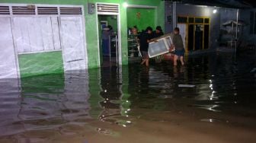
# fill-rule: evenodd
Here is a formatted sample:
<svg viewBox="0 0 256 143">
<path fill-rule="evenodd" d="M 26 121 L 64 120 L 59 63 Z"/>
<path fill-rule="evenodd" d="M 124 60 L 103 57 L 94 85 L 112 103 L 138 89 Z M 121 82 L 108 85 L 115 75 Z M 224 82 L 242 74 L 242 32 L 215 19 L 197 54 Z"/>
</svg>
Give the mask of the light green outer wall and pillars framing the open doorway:
<svg viewBox="0 0 256 143">
<path fill-rule="evenodd" d="M 86 45 L 88 50 L 88 68 L 99 67 L 100 59 L 98 57 L 98 33 L 96 13 L 87 13 L 87 2 L 96 3 L 116 3 L 120 4 L 120 25 L 121 25 L 121 41 L 122 41 L 122 64 L 128 64 L 127 54 L 127 15 L 123 2 L 129 5 L 150 5 L 157 7 L 157 25 L 164 28 L 165 23 L 165 4 L 162 0 L 1 0 L 1 3 L 21 3 L 21 4 L 45 4 L 45 5 L 83 5 L 85 10 L 85 33 Z"/>
</svg>

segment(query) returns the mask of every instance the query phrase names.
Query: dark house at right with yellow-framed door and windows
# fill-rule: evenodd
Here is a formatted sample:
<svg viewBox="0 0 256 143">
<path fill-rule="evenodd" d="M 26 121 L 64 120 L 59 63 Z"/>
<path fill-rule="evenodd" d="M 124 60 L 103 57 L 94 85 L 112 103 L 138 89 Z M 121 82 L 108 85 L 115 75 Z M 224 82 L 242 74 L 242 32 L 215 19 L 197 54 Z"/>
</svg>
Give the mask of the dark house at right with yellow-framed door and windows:
<svg viewBox="0 0 256 143">
<path fill-rule="evenodd" d="M 165 1 L 165 32 L 179 27 L 189 53 L 235 46 L 236 40 L 237 46 L 245 48 L 256 44 L 253 32 L 256 31 L 254 7 L 255 2 L 251 0 Z"/>
</svg>

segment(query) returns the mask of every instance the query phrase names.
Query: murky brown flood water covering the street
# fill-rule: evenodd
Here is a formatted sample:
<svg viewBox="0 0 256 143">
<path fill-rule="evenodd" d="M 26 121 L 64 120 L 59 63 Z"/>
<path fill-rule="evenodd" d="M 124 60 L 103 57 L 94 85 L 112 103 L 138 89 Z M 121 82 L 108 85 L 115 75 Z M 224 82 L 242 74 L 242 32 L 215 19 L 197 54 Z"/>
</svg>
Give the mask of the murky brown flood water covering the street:
<svg viewBox="0 0 256 143">
<path fill-rule="evenodd" d="M 256 141 L 255 56 L 0 80 L 0 142 Z M 179 87 L 190 84 L 195 87 Z"/>
</svg>

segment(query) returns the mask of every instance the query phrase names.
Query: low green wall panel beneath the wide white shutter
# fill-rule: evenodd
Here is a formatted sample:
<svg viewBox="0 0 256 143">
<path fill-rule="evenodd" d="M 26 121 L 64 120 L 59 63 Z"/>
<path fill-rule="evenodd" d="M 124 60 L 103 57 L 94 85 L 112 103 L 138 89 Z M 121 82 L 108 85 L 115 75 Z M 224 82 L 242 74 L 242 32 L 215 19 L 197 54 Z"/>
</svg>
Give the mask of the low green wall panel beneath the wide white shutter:
<svg viewBox="0 0 256 143">
<path fill-rule="evenodd" d="M 19 55 L 21 78 L 32 75 L 62 73 L 62 52 L 41 52 Z"/>
</svg>

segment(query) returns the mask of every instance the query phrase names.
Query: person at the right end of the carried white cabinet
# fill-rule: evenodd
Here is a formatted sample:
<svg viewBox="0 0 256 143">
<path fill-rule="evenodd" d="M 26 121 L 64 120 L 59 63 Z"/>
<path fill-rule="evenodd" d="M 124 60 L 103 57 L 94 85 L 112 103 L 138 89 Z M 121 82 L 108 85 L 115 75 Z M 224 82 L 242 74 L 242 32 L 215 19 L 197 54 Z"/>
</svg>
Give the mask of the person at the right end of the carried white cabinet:
<svg viewBox="0 0 256 143">
<path fill-rule="evenodd" d="M 183 40 L 180 34 L 180 29 L 178 27 L 174 28 L 174 37 L 173 37 L 173 46 L 175 49 L 174 52 L 174 66 L 177 65 L 178 59 L 181 61 L 181 65 L 184 65 L 184 45 Z"/>
</svg>

